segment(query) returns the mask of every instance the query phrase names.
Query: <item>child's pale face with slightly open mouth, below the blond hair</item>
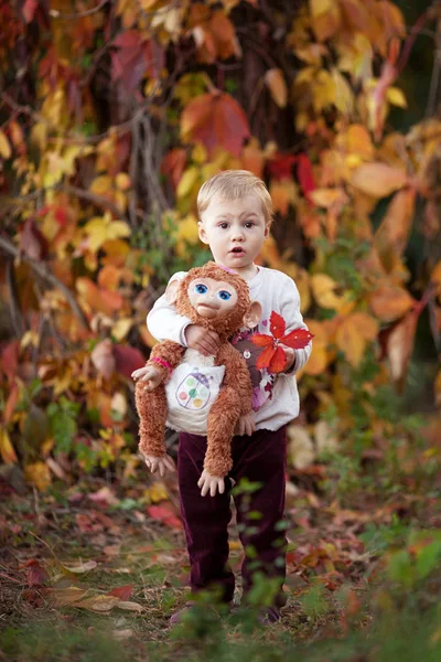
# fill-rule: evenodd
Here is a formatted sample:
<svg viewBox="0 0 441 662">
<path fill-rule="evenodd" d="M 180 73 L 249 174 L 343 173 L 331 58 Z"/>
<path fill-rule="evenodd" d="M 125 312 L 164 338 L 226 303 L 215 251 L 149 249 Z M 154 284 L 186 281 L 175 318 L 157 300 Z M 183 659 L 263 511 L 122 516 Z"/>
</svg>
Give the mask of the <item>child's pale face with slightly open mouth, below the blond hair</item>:
<svg viewBox="0 0 441 662">
<path fill-rule="evenodd" d="M 238 271 L 254 263 L 268 233 L 262 202 L 255 194 L 226 202 L 214 196 L 201 215 L 201 241 L 217 264 Z"/>
</svg>

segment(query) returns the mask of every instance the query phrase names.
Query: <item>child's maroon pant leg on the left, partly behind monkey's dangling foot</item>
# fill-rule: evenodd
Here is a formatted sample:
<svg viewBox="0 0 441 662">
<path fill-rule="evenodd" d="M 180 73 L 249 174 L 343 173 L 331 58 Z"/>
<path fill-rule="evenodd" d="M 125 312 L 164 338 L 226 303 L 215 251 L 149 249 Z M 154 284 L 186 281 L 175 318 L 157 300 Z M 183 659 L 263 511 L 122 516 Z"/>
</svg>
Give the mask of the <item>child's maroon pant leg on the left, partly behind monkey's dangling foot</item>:
<svg viewBox="0 0 441 662">
<path fill-rule="evenodd" d="M 220 599 L 233 600 L 235 576 L 228 567 L 228 523 L 232 516 L 229 481 L 224 494 L 201 496 L 197 481 L 203 471 L 206 437 L 180 434 L 178 479 L 181 515 L 190 557 L 193 592 L 216 587 Z"/>
</svg>

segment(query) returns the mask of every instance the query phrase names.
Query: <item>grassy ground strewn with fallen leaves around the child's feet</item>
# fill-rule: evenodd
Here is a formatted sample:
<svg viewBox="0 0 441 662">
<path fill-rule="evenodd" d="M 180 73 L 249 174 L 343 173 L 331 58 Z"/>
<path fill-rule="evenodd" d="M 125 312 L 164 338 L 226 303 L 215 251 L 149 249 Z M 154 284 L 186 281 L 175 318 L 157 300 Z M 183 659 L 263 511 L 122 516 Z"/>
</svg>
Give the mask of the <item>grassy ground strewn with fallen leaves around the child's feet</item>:
<svg viewBox="0 0 441 662">
<path fill-rule="evenodd" d="M 22 495 L 0 482 L 0 660 L 440 660 L 439 466 L 388 458 L 391 480 L 370 455 L 357 476 L 292 471 L 288 601 L 266 628 L 250 607 L 219 618 L 204 599 L 169 627 L 189 572 L 173 482 L 88 478 Z"/>
</svg>

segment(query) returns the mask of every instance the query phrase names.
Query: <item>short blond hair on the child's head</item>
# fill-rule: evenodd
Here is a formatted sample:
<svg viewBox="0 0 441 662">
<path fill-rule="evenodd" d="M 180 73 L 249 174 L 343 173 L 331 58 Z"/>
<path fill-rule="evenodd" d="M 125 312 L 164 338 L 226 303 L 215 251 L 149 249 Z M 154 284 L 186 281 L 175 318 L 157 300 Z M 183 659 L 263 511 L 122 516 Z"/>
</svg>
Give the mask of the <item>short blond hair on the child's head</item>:
<svg viewBox="0 0 441 662">
<path fill-rule="evenodd" d="M 197 213 L 200 218 L 212 199 L 217 195 L 222 202 L 239 200 L 244 195 L 256 194 L 260 197 L 265 223 L 272 223 L 272 200 L 265 183 L 248 170 L 224 170 L 207 180 L 197 194 Z"/>
</svg>

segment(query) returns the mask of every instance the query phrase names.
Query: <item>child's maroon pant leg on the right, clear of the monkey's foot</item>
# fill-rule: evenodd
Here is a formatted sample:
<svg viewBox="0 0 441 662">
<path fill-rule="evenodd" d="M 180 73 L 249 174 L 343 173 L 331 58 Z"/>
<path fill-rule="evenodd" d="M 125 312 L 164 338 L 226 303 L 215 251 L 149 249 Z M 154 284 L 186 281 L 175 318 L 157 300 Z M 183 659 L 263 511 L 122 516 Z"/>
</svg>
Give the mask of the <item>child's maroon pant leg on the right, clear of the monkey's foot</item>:
<svg viewBox="0 0 441 662">
<path fill-rule="evenodd" d="M 252 586 L 256 572 L 275 578 L 275 604 L 284 604 L 287 538 L 278 523 L 283 520 L 286 491 L 286 426 L 257 430 L 251 437 L 235 437 L 232 478 L 259 482 L 260 488 L 235 496 L 240 542 L 246 552 L 241 568 L 244 594 Z M 257 515 L 256 513 L 259 513 Z"/>
</svg>

